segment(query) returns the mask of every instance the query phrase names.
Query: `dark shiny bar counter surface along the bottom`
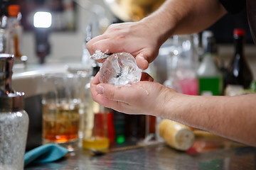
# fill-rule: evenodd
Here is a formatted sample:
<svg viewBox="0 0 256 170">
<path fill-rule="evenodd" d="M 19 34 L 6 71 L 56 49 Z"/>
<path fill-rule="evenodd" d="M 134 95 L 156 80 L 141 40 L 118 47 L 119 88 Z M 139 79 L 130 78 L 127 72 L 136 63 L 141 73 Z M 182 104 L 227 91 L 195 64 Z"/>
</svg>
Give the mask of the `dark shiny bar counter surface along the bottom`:
<svg viewBox="0 0 256 170">
<path fill-rule="evenodd" d="M 100 156 L 92 156 L 85 149 L 78 149 L 68 155 L 47 164 L 29 164 L 25 170 L 36 169 L 104 169 L 104 170 L 161 170 L 161 169 L 256 169 L 255 147 L 230 147 L 215 149 L 200 154 L 188 154 L 177 151 L 160 143 L 135 149 L 110 152 Z"/>
</svg>

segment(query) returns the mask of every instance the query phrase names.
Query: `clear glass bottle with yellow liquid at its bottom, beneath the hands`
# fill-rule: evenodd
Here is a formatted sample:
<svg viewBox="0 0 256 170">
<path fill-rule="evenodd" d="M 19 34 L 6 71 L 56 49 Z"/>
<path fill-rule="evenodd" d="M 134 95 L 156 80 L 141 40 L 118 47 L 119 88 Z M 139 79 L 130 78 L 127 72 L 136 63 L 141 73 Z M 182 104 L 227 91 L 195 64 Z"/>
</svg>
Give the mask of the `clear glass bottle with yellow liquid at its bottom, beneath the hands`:
<svg viewBox="0 0 256 170">
<path fill-rule="evenodd" d="M 99 70 L 100 67 L 93 67 L 91 79 L 95 77 Z M 109 130 L 114 130 L 114 124 L 110 121 L 112 112 L 92 100 L 90 83 L 85 87 L 85 98 L 87 100 L 87 109 L 84 116 L 82 148 L 106 150 L 110 147 L 109 134 L 113 135 Z"/>
</svg>

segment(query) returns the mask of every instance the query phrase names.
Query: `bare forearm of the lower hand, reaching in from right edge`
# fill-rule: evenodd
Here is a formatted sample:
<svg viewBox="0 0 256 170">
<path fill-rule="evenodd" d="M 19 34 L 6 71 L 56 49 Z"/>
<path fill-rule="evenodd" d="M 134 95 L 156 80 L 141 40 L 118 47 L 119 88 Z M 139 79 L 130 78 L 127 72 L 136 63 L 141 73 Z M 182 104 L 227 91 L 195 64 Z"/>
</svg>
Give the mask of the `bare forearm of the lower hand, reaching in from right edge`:
<svg viewBox="0 0 256 170">
<path fill-rule="evenodd" d="M 162 116 L 256 146 L 256 94 L 171 98 Z"/>
</svg>

